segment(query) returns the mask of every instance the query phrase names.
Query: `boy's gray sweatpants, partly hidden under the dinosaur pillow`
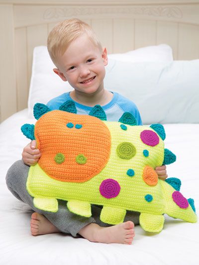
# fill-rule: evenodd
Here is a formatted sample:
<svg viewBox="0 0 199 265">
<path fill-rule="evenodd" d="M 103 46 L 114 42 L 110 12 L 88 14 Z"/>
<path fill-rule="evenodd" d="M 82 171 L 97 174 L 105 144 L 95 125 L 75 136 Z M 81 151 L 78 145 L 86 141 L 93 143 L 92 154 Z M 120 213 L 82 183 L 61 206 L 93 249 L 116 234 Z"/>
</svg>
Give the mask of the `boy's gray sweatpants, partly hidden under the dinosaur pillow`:
<svg viewBox="0 0 199 265">
<path fill-rule="evenodd" d="M 58 200 L 58 212 L 47 212 L 35 208 L 33 197 L 26 190 L 26 181 L 29 166 L 26 166 L 22 160 L 16 161 L 8 170 L 6 175 L 6 184 L 11 193 L 19 200 L 27 203 L 35 212 L 43 214 L 54 226 L 61 232 L 69 233 L 77 237 L 78 232 L 90 223 L 97 223 L 100 226 L 109 226 L 100 221 L 101 208 L 92 205 L 92 217 L 87 218 L 70 212 L 66 206 L 66 201 Z M 135 225 L 139 224 L 138 212 L 127 211 L 124 221 L 132 221 Z"/>
</svg>

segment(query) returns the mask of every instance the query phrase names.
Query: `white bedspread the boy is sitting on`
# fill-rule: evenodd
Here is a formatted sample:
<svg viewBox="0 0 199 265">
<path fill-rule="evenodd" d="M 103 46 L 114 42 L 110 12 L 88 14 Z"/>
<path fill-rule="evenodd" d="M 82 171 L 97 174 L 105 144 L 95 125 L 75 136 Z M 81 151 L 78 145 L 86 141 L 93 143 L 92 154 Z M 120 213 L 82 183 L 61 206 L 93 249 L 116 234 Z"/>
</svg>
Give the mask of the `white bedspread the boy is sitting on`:
<svg viewBox="0 0 199 265">
<path fill-rule="evenodd" d="M 7 190 L 5 175 L 29 142 L 20 132 L 21 125 L 34 122 L 24 109 L 0 124 L 0 265 L 199 264 L 199 224 L 168 216 L 160 234 L 136 226 L 130 246 L 91 243 L 61 233 L 31 236 L 32 211 Z M 164 127 L 165 147 L 177 156 L 177 162 L 167 166 L 168 175 L 182 180 L 181 192 L 194 198 L 199 209 L 199 124 Z"/>
</svg>

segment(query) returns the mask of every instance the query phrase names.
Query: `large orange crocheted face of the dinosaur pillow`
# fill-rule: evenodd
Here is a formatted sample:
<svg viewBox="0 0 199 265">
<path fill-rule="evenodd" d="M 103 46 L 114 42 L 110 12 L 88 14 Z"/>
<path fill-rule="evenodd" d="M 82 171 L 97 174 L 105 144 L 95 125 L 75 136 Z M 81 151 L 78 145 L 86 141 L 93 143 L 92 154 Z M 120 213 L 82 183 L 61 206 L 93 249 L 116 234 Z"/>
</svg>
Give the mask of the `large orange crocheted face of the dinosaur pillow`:
<svg viewBox="0 0 199 265">
<path fill-rule="evenodd" d="M 67 124 L 73 123 L 73 127 Z M 76 128 L 81 124 L 81 128 Z M 100 119 L 89 115 L 77 115 L 61 110 L 45 113 L 35 124 L 35 139 L 41 152 L 39 166 L 54 179 L 68 182 L 84 182 L 105 167 L 110 155 L 110 132 Z M 57 153 L 65 161 L 57 164 Z M 76 158 L 84 154 L 87 163 L 79 164 Z"/>
</svg>

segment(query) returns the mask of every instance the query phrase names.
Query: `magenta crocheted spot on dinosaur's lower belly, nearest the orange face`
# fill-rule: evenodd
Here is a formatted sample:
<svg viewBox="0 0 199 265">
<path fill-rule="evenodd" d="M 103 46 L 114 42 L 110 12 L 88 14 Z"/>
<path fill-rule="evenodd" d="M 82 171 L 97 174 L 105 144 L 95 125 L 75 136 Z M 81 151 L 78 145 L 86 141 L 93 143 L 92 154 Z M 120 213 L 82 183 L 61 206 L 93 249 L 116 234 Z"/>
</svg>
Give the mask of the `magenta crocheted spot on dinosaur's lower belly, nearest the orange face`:
<svg viewBox="0 0 199 265">
<path fill-rule="evenodd" d="M 105 179 L 100 184 L 100 193 L 107 199 L 116 197 L 119 194 L 119 191 L 119 183 L 112 178 Z"/>
</svg>

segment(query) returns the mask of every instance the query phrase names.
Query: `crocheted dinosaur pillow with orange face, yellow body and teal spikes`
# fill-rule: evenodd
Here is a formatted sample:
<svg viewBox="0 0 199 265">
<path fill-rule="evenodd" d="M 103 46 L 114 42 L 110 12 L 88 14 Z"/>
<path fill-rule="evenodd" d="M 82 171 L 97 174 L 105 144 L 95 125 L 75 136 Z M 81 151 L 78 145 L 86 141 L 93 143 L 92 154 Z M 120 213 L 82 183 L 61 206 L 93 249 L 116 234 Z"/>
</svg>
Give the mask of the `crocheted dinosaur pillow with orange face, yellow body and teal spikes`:
<svg viewBox="0 0 199 265">
<path fill-rule="evenodd" d="M 26 183 L 35 207 L 56 212 L 62 199 L 71 212 L 90 217 L 91 204 L 103 205 L 100 219 L 108 224 L 122 222 L 126 210 L 138 211 L 140 225 L 149 232 L 163 229 L 164 213 L 197 221 L 194 200 L 179 191 L 180 179 L 163 181 L 154 171 L 176 160 L 164 148 L 161 124 L 136 126 L 128 112 L 108 122 L 100 105 L 90 115 L 76 113 L 70 100 L 52 111 L 37 103 L 36 124 L 21 127 L 41 151 Z"/>
</svg>

